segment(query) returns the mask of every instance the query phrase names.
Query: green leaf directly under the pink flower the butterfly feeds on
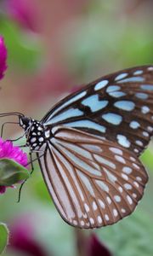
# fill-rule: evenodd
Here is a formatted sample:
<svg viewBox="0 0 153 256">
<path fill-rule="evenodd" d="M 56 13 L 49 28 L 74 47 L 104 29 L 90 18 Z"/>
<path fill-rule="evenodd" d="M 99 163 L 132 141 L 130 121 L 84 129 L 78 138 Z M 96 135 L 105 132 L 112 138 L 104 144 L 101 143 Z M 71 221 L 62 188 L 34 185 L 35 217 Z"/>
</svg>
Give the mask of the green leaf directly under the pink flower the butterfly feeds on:
<svg viewBox="0 0 153 256">
<path fill-rule="evenodd" d="M 30 177 L 28 170 L 14 160 L 0 160 L 0 186 L 11 186 Z"/>
</svg>

